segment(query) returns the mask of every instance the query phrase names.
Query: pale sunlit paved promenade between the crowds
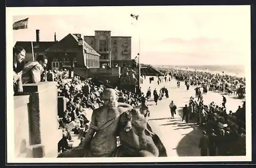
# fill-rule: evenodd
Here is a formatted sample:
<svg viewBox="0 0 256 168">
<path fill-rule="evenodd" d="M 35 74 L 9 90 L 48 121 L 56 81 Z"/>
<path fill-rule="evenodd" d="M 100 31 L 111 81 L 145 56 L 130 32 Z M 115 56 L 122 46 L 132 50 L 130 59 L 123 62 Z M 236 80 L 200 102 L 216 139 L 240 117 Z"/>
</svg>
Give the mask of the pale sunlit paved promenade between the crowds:
<svg viewBox="0 0 256 168">
<path fill-rule="evenodd" d="M 153 97 L 148 101 L 151 111 L 150 120 L 159 126 L 160 138 L 165 145 L 168 156 L 200 156 L 200 149 L 198 148 L 201 136 L 200 128 L 194 121 L 189 121 L 188 124 L 181 121 L 182 108 L 185 104 L 188 104 L 191 96 L 195 99 L 195 87 L 190 86 L 189 90 L 186 90 L 184 82 L 181 82 L 180 88 L 177 88 L 175 79 L 158 85 L 156 77 L 154 78 L 155 81 L 152 81 L 150 84 L 149 77 L 146 77 L 146 80 L 141 85 L 141 89 L 144 94 L 148 87 L 151 87 L 152 93 L 155 88 L 158 93 L 163 86 L 168 89 L 168 99 L 163 97 L 163 100 L 158 101 L 157 105 Z M 227 99 L 227 111 L 232 110 L 235 112 L 239 105 L 242 106 L 242 100 L 233 98 L 233 95 L 225 95 L 225 97 Z M 176 104 L 178 108 L 176 111 L 178 112 L 176 112 L 175 118 L 171 119 L 168 105 L 172 100 Z M 221 105 L 222 95 L 218 92 L 208 91 L 207 94 L 203 95 L 203 100 L 205 104 L 214 101 L 216 104 Z"/>
</svg>

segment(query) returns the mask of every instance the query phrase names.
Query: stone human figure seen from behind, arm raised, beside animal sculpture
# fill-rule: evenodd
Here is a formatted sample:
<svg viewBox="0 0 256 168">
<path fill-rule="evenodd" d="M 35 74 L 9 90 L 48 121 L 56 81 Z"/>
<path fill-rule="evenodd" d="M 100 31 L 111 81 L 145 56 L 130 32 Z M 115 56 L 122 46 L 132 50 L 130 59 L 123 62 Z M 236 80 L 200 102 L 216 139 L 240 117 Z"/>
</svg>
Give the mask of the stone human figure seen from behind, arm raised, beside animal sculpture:
<svg viewBox="0 0 256 168">
<path fill-rule="evenodd" d="M 92 114 L 89 130 L 81 145 L 66 151 L 58 157 L 113 157 L 116 150 L 116 136 L 119 116 L 132 106 L 117 102 L 114 89 L 105 89 L 102 94 L 104 104 Z"/>
</svg>

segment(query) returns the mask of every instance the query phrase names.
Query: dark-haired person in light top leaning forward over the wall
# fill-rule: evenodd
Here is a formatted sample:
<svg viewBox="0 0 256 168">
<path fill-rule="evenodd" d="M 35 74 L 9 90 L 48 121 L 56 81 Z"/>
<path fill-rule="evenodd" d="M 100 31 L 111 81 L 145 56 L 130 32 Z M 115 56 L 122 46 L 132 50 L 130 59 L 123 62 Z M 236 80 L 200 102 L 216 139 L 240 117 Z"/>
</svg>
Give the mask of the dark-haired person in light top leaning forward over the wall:
<svg viewBox="0 0 256 168">
<path fill-rule="evenodd" d="M 41 81 L 41 74 L 45 71 L 47 58 L 44 55 L 38 55 L 36 61 L 28 62 L 22 71 L 22 83 L 38 83 Z"/>
</svg>

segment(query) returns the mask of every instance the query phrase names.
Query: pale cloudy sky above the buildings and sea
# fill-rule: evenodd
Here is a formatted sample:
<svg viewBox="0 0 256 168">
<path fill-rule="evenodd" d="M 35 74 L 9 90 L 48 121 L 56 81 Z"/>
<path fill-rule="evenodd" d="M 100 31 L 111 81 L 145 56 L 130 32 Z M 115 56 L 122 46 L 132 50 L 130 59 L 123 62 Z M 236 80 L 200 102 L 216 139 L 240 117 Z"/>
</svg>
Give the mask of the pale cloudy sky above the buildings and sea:
<svg viewBox="0 0 256 168">
<path fill-rule="evenodd" d="M 130 15 L 139 15 L 138 21 Z M 57 40 L 69 33 L 132 36 L 132 58 L 152 65 L 245 65 L 250 59 L 250 6 L 50 7 L 7 11 L 29 17 L 16 41 Z"/>
</svg>

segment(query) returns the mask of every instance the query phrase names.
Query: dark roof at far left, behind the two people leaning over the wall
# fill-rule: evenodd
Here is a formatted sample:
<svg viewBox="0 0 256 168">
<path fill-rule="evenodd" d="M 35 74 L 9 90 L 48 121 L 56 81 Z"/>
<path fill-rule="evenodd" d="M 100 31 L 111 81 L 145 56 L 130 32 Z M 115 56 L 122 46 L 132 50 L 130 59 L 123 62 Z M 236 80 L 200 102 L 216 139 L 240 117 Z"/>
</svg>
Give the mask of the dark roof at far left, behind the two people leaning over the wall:
<svg viewBox="0 0 256 168">
<path fill-rule="evenodd" d="M 34 52 L 44 53 L 53 46 L 57 41 L 32 41 Z M 27 53 L 32 53 L 31 41 L 17 41 L 14 46 L 24 47 Z"/>
</svg>

